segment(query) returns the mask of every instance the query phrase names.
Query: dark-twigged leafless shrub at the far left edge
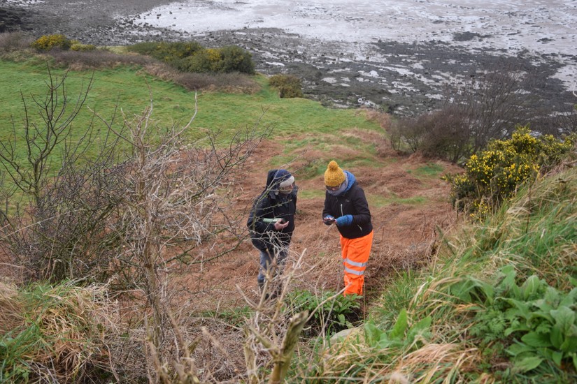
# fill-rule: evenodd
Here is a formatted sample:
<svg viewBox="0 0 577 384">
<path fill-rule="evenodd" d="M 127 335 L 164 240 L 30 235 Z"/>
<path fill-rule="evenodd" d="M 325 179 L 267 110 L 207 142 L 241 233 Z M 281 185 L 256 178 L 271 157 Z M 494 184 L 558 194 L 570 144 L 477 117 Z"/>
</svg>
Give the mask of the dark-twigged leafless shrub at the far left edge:
<svg viewBox="0 0 577 384">
<path fill-rule="evenodd" d="M 73 136 L 72 122 L 92 79 L 74 101 L 66 93 L 67 75 L 52 76 L 48 68 L 47 94 L 32 96 L 34 108 L 22 95 L 23 126 L 14 123 L 10 140 L 0 144 L 0 164 L 9 177 L 0 180 L 6 199 L 2 243 L 29 279 L 106 281 L 118 246 L 108 219 L 124 188 L 116 165 L 120 138 L 100 137 L 92 123 L 75 127 Z M 31 118 L 36 113 L 39 120 Z M 98 154 L 88 155 L 98 143 Z"/>
</svg>

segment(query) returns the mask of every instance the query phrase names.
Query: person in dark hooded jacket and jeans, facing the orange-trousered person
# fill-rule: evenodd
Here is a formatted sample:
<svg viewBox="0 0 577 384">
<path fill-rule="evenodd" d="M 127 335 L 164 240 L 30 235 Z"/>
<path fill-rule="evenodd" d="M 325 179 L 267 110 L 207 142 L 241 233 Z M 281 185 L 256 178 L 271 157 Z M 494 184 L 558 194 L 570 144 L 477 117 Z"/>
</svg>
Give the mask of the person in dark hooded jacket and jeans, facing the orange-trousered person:
<svg viewBox="0 0 577 384">
<path fill-rule="evenodd" d="M 252 245 L 260 252 L 257 283 L 259 289 L 269 272 L 282 272 L 288 256 L 288 247 L 294 232 L 294 214 L 297 212 L 297 186 L 294 177 L 284 169 L 269 170 L 264 191 L 255 199 L 246 225 Z M 276 271 L 271 267 L 276 265 Z M 277 288 L 278 289 L 278 288 Z"/>
</svg>

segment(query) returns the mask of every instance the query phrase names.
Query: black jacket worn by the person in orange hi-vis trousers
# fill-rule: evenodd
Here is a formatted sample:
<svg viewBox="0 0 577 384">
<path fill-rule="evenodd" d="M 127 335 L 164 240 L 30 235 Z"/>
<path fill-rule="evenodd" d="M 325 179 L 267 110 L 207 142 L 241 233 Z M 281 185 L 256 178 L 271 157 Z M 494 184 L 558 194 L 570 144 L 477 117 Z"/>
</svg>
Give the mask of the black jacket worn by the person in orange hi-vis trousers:
<svg viewBox="0 0 577 384">
<path fill-rule="evenodd" d="M 322 210 L 322 217 L 331 215 L 337 219 L 347 214 L 352 215 L 352 223 L 349 226 L 337 226 L 337 228 L 343 237 L 357 239 L 369 235 L 373 230 L 371 212 L 364 191 L 355 176 L 347 170 L 344 172 L 348 179 L 347 187 L 343 193 L 336 196 L 325 192 L 325 209 Z"/>
</svg>

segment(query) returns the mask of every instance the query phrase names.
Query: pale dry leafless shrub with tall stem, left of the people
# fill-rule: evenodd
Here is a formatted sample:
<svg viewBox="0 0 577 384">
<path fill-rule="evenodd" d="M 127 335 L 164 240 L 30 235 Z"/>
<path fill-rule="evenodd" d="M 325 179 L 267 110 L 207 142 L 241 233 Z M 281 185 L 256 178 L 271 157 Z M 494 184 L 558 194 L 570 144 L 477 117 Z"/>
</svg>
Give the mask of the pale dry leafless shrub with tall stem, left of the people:
<svg viewBox="0 0 577 384">
<path fill-rule="evenodd" d="M 131 157 L 124 163 L 125 189 L 117 196 L 122 202 L 115 228 L 122 244 L 117 255 L 121 279 L 144 299 L 148 376 L 169 382 L 174 371 L 164 367 L 194 368 L 187 341 L 179 340 L 180 323 L 173 318 L 176 293 L 168 289 L 169 276 L 183 263 L 206 263 L 243 242 L 245 217 L 230 209 L 234 202 L 227 191 L 266 130 L 257 133 L 255 126 L 224 141 L 208 133 L 189 144 L 184 133 L 196 112 L 186 126 L 160 128 L 152 109 L 151 98 L 142 115 L 124 115 L 127 132 L 117 133 L 129 143 Z M 195 375 L 193 370 L 186 377 Z"/>
</svg>

